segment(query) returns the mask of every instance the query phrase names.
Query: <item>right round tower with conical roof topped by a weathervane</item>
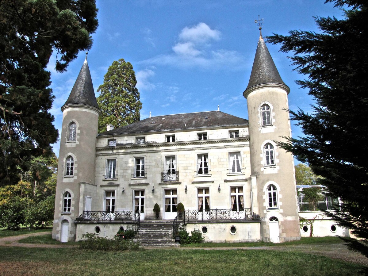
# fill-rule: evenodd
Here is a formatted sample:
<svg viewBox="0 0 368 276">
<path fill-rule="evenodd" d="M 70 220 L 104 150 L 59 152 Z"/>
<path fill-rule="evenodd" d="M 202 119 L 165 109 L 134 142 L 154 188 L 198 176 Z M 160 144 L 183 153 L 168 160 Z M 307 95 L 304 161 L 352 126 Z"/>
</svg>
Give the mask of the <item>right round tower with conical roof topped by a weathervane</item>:
<svg viewBox="0 0 368 276">
<path fill-rule="evenodd" d="M 251 185 L 257 191 L 254 212 L 261 216 L 263 240 L 283 242 L 300 239 L 294 161 L 276 141 L 291 136 L 287 95 L 260 33 L 252 72 L 243 95 L 247 99 Z"/>
</svg>

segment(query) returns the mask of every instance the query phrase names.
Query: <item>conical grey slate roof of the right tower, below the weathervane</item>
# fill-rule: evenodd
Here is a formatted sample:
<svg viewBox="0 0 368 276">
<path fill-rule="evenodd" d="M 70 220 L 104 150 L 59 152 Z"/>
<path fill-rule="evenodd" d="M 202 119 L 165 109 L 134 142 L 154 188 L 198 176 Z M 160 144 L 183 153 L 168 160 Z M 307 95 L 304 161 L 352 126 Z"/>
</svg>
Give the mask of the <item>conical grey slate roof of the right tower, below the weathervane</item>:
<svg viewBox="0 0 368 276">
<path fill-rule="evenodd" d="M 263 40 L 262 35 L 260 35 L 247 89 L 259 84 L 268 83 L 285 85 L 280 77 L 279 71 L 277 71 L 270 53 L 268 52 L 265 41 Z"/>
</svg>

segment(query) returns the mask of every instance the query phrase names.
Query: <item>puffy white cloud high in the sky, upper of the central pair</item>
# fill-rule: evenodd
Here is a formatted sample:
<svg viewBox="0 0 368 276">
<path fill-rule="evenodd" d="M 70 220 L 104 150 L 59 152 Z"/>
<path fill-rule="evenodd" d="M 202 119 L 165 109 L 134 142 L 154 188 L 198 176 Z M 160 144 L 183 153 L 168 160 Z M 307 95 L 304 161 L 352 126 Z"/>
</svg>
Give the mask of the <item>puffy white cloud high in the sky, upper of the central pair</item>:
<svg viewBox="0 0 368 276">
<path fill-rule="evenodd" d="M 200 22 L 192 28 L 185 27 L 181 30 L 179 38 L 184 41 L 192 41 L 195 43 L 205 43 L 210 39 L 219 40 L 220 31 L 212 30 L 206 23 Z"/>
</svg>

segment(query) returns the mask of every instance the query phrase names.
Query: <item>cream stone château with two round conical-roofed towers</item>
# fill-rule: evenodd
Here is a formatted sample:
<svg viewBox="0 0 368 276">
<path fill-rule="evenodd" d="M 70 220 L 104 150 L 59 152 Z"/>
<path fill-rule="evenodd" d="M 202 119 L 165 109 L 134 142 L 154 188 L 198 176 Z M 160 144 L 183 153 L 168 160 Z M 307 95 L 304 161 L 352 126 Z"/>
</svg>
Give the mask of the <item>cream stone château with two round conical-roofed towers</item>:
<svg viewBox="0 0 368 276">
<path fill-rule="evenodd" d="M 53 238 L 112 238 L 160 222 L 171 237 L 183 225 L 206 241 L 300 239 L 293 156 L 275 143 L 291 136 L 288 94 L 260 35 L 243 93 L 248 120 L 218 107 L 98 133 L 101 111 L 86 59 L 61 107 Z"/>
</svg>

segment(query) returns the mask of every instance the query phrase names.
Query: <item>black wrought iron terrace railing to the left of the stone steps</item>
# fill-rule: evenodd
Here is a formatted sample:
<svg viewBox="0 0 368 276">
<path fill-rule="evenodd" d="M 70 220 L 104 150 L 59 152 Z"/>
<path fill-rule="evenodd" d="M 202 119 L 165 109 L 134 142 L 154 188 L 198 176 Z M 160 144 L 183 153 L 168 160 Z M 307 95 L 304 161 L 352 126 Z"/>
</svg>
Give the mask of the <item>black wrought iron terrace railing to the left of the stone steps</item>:
<svg viewBox="0 0 368 276">
<path fill-rule="evenodd" d="M 141 220 L 141 212 L 137 211 L 84 211 L 82 215 L 77 217 L 77 222 L 83 221 L 119 221 L 119 222 L 137 222 Z"/>
</svg>

